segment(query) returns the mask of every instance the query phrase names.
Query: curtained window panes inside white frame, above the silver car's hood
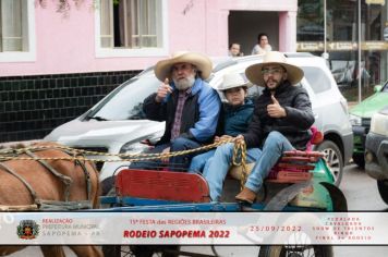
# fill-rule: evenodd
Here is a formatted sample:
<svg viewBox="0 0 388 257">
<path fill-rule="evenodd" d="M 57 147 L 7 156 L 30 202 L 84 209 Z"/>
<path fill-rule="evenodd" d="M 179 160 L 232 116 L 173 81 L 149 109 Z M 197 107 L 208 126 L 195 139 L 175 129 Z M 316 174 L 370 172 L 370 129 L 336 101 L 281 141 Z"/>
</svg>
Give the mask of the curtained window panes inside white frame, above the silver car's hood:
<svg viewBox="0 0 388 257">
<path fill-rule="evenodd" d="M 101 48 L 161 48 L 161 0 L 100 1 Z"/>
</svg>

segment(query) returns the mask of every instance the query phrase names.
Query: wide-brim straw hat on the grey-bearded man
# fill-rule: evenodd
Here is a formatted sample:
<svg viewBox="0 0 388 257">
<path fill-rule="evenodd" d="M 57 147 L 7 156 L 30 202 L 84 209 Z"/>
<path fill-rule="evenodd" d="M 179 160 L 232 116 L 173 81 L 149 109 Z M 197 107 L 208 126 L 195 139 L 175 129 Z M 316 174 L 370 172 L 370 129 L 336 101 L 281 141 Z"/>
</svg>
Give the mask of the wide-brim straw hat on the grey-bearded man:
<svg viewBox="0 0 388 257">
<path fill-rule="evenodd" d="M 163 82 L 166 77 L 171 78 L 172 65 L 183 62 L 195 65 L 203 79 L 207 79 L 210 76 L 213 63 L 209 58 L 197 52 L 179 51 L 173 53 L 171 58 L 156 63 L 154 69 L 156 77 L 161 82 Z"/>
</svg>

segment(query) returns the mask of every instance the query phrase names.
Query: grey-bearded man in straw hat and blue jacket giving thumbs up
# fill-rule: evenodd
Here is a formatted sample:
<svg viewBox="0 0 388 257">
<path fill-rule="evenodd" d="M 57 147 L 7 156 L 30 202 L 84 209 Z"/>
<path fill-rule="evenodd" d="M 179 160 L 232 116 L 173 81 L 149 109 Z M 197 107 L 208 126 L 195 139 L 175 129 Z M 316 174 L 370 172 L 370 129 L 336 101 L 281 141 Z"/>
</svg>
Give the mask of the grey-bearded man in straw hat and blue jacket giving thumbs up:
<svg viewBox="0 0 388 257">
<path fill-rule="evenodd" d="M 150 152 L 180 151 L 199 147 L 213 139 L 221 101 L 206 82 L 211 61 L 195 52 L 177 52 L 155 66 L 156 77 L 162 82 L 157 93 L 144 100 L 143 110 L 149 120 L 166 121 L 165 134 Z M 192 156 L 162 159 L 173 170 L 187 168 Z M 157 166 L 158 161 L 154 163 Z M 131 168 L 145 167 L 133 163 Z M 149 167 L 149 166 L 148 166 Z M 151 167 L 149 167 L 151 168 Z"/>
</svg>

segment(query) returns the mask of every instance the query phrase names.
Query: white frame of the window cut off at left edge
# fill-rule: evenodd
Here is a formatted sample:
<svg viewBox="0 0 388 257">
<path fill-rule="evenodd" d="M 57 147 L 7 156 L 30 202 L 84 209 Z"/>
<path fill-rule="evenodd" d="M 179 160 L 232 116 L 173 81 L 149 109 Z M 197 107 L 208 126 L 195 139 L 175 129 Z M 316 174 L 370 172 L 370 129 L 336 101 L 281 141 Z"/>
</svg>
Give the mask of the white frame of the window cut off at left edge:
<svg viewBox="0 0 388 257">
<path fill-rule="evenodd" d="M 23 45 L 27 45 L 27 51 L 0 51 L 0 62 L 32 62 L 36 61 L 36 35 L 35 35 L 35 4 L 34 0 L 26 1 L 26 19 L 22 17 L 22 26 L 27 27 L 23 33 Z M 23 3 L 22 3 L 23 4 Z"/>
</svg>

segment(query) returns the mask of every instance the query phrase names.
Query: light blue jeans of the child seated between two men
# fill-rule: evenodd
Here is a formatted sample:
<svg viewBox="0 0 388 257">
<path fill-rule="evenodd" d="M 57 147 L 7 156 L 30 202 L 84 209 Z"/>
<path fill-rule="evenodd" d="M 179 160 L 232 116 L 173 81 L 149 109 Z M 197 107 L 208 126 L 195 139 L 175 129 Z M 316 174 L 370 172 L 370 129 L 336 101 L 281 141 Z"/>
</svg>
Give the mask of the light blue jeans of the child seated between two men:
<svg viewBox="0 0 388 257">
<path fill-rule="evenodd" d="M 219 201 L 225 178 L 230 169 L 233 158 L 233 143 L 228 143 L 217 147 L 214 156 L 206 161 L 203 175 L 209 185 L 210 198 Z M 250 148 L 246 151 L 246 162 L 256 161 L 262 155 L 259 148 Z"/>
</svg>

